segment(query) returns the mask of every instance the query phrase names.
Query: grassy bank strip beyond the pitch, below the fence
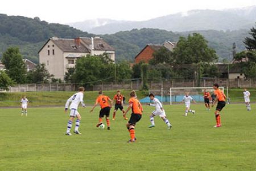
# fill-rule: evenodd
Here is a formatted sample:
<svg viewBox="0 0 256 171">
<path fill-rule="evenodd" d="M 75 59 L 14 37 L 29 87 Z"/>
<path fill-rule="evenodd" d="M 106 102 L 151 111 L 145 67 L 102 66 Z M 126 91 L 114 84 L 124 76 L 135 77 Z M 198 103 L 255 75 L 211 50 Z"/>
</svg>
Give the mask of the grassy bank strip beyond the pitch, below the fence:
<svg viewBox="0 0 256 171">
<path fill-rule="evenodd" d="M 251 101 L 256 101 L 256 89 L 249 89 L 251 92 Z M 116 91 L 104 91 L 105 95 L 113 98 Z M 122 94 L 129 97 L 130 91 L 122 91 Z M 230 89 L 229 96 L 231 102 L 243 102 L 243 89 Z M 65 101 L 75 92 L 15 92 L 0 93 L 0 106 L 19 106 L 19 101 L 23 95 L 30 100 L 31 106 L 62 106 Z M 85 92 L 85 104 L 93 104 L 97 96 L 97 91 Z M 141 91 L 137 91 L 139 99 L 145 97 Z"/>
</svg>

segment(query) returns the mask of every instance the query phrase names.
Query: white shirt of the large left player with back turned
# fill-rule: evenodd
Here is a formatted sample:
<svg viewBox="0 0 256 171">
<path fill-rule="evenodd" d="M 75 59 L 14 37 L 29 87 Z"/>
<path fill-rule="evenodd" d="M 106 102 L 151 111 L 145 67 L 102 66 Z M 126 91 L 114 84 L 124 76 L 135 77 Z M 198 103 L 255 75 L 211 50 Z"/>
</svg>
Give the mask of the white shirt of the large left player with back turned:
<svg viewBox="0 0 256 171">
<path fill-rule="evenodd" d="M 82 104 L 82 106 L 85 106 L 84 104 L 84 93 L 82 92 L 78 92 L 78 93 L 75 93 L 73 96 L 71 96 L 66 104 L 65 104 L 65 108 L 67 109 L 69 104 L 71 103 L 71 105 L 69 106 L 69 109 L 76 109 L 78 108 L 80 102 Z"/>
</svg>

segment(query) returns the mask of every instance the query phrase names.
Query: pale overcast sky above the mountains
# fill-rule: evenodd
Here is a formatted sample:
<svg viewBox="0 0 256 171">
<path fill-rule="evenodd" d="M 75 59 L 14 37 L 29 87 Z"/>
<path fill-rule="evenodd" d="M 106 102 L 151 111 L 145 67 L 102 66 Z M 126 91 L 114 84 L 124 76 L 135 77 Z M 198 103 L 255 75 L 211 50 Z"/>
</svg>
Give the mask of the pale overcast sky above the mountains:
<svg viewBox="0 0 256 171">
<path fill-rule="evenodd" d="M 0 14 L 38 16 L 49 23 L 72 23 L 87 19 L 148 20 L 196 9 L 222 10 L 256 5 L 256 0 L 8 0 Z"/>
</svg>

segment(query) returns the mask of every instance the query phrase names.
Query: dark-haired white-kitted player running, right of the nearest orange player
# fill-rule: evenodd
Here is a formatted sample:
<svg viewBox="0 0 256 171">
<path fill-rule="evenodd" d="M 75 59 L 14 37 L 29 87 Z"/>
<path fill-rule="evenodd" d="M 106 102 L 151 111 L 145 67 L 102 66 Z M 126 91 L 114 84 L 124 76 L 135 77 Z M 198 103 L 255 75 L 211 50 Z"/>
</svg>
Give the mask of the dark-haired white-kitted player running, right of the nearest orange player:
<svg viewBox="0 0 256 171">
<path fill-rule="evenodd" d="M 172 125 L 166 117 L 166 112 L 163 109 L 162 103 L 158 99 L 155 98 L 155 95 L 153 93 L 150 93 L 149 97 L 153 103 L 152 104 L 149 103 L 148 105 L 154 106 L 155 110 L 151 113 L 151 116 L 150 116 L 151 125 L 148 127 L 149 128 L 155 127 L 154 117 L 159 116 L 166 123 L 166 125 L 168 126 L 168 129 L 171 129 Z"/>
</svg>

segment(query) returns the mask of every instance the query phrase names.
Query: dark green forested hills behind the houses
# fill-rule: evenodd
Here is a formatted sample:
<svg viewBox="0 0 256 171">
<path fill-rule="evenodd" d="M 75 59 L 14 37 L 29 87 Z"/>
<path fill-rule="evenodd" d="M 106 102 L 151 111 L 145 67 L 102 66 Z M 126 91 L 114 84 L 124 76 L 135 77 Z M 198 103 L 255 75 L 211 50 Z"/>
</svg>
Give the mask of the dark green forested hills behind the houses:
<svg viewBox="0 0 256 171">
<path fill-rule="evenodd" d="M 39 18 L 23 16 L 7 16 L 0 14 L 0 58 L 9 46 L 18 46 L 23 58 L 38 63 L 38 51 L 43 44 L 53 36 L 61 38 L 96 36 L 82 32 L 68 25 L 52 24 L 40 21 Z M 250 27 L 254 26 L 251 24 Z M 236 42 L 237 51 L 245 49 L 243 39 L 248 36 L 249 28 L 236 31 L 189 31 L 171 32 L 163 29 L 132 29 L 117 32 L 112 35 L 100 35 L 115 48 L 118 61 L 134 61 L 134 57 L 147 44 L 162 44 L 164 41 L 177 41 L 180 36 L 192 32 L 201 33 L 208 40 L 209 46 L 216 50 L 220 61 L 232 59 L 232 44 Z"/>
</svg>

